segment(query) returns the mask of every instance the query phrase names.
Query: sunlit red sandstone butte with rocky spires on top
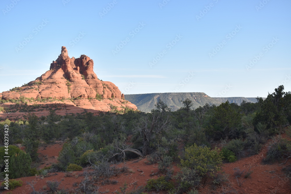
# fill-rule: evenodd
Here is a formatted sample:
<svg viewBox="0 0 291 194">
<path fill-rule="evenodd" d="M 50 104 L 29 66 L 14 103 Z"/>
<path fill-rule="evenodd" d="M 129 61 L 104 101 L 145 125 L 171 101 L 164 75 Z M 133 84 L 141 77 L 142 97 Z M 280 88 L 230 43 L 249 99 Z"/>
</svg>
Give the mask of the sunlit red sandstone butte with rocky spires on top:
<svg viewBox="0 0 291 194">
<path fill-rule="evenodd" d="M 88 56 L 70 58 L 66 47 L 62 47 L 61 54 L 51 63 L 49 71 L 22 87 L 0 93 L 0 99 L 52 97 L 98 111 L 110 111 L 114 106 L 118 110 L 124 107 L 137 110 L 134 104 L 124 99 L 115 84 L 99 80 L 93 66 L 93 60 Z"/>
</svg>

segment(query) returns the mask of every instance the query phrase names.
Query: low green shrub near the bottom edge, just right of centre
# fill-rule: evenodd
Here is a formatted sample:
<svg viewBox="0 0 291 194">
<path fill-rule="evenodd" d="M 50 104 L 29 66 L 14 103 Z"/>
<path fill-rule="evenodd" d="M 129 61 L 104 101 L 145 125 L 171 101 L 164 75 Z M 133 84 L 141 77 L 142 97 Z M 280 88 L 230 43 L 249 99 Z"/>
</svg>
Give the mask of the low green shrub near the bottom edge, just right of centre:
<svg viewBox="0 0 291 194">
<path fill-rule="evenodd" d="M 173 188 L 174 188 L 174 184 L 171 181 L 166 181 L 164 176 L 161 176 L 157 179 L 150 179 L 145 185 L 145 189 L 147 191 L 171 190 Z"/>
</svg>

